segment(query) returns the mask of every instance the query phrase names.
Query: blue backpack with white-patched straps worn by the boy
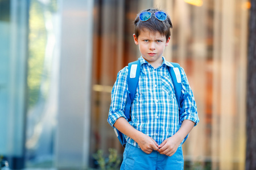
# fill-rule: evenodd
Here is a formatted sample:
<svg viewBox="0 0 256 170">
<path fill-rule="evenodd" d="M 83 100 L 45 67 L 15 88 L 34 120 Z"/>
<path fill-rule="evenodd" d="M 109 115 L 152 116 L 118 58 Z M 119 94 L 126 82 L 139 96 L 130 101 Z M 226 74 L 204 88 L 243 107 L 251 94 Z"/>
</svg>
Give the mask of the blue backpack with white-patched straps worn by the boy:
<svg viewBox="0 0 256 170">
<path fill-rule="evenodd" d="M 168 67 L 168 71 L 170 72 L 172 82 L 174 84 L 174 90 L 175 90 L 175 96 L 177 99 L 177 103 L 179 105 L 179 114 L 181 111 L 181 105 L 183 104 L 180 101 L 181 97 L 181 75 L 180 75 L 180 65 L 178 63 L 171 62 L 171 64 L 174 67 Z M 125 116 L 128 121 L 131 121 L 130 117 L 130 108 L 131 103 L 134 100 L 134 96 L 136 93 L 136 89 L 139 82 L 139 74 L 141 73 L 141 63 L 139 60 L 131 62 L 128 64 L 128 76 L 127 76 L 127 84 L 128 84 L 128 90 L 127 90 L 127 102 L 125 105 Z M 186 96 L 184 96 L 185 99 Z M 117 138 L 121 145 L 125 147 L 127 141 L 125 139 L 125 135 L 121 133 L 121 131 L 114 128 L 115 134 L 117 135 Z"/>
</svg>

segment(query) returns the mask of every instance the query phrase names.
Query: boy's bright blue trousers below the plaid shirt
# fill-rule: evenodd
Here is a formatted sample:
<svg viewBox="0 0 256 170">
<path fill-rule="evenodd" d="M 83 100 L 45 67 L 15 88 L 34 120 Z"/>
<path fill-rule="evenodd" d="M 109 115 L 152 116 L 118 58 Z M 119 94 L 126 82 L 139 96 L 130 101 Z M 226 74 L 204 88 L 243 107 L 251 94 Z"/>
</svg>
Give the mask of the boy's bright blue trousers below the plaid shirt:
<svg viewBox="0 0 256 170">
<path fill-rule="evenodd" d="M 134 147 L 129 143 L 125 146 L 123 152 L 123 162 L 120 169 L 183 169 L 184 159 L 182 148 L 178 147 L 177 151 L 172 156 L 159 154 L 158 151 L 152 151 L 151 154 L 146 154 L 141 148 Z"/>
</svg>

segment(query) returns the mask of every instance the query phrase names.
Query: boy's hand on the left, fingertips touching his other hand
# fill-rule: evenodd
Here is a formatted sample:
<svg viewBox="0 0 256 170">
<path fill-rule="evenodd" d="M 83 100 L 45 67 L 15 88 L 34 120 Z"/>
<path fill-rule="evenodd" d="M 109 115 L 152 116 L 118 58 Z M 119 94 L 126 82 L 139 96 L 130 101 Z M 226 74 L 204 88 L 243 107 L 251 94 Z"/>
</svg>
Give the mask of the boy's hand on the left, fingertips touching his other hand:
<svg viewBox="0 0 256 170">
<path fill-rule="evenodd" d="M 141 147 L 141 150 L 146 154 L 151 154 L 153 150 L 158 150 L 158 143 L 154 139 L 148 137 L 148 135 L 141 133 L 141 137 L 136 141 Z"/>
</svg>

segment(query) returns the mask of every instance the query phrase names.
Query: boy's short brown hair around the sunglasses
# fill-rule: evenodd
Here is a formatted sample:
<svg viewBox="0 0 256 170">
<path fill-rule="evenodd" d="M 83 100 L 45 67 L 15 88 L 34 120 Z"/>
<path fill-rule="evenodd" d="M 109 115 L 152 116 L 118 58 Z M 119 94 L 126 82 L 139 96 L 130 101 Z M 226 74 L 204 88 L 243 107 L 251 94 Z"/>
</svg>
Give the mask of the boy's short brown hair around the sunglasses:
<svg viewBox="0 0 256 170">
<path fill-rule="evenodd" d="M 156 12 L 156 11 L 163 11 L 163 10 L 158 10 L 157 8 L 148 8 L 141 12 L 146 12 L 146 11 Z M 141 14 L 141 12 L 139 12 L 139 14 Z M 149 20 L 147 20 L 146 22 L 142 22 L 141 20 L 139 20 L 139 14 L 137 15 L 137 17 L 133 22 L 135 25 L 134 34 L 136 37 L 138 37 L 139 33 L 144 29 L 148 29 L 149 31 L 154 31 L 154 32 L 158 31 L 161 35 L 166 36 L 166 40 L 171 36 L 170 29 L 172 28 L 172 22 L 168 15 L 167 15 L 167 19 L 164 21 L 160 21 L 156 19 L 154 16 L 153 17 L 151 16 Z"/>
</svg>

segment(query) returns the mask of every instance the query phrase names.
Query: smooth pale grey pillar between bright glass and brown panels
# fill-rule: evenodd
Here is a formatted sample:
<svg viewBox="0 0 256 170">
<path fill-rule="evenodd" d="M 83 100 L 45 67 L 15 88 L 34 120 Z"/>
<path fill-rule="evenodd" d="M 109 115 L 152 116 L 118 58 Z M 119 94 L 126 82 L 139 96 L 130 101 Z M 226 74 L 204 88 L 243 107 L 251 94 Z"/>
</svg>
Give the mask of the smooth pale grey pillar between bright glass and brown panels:
<svg viewBox="0 0 256 170">
<path fill-rule="evenodd" d="M 57 167 L 88 167 L 93 1 L 63 0 Z"/>
</svg>

